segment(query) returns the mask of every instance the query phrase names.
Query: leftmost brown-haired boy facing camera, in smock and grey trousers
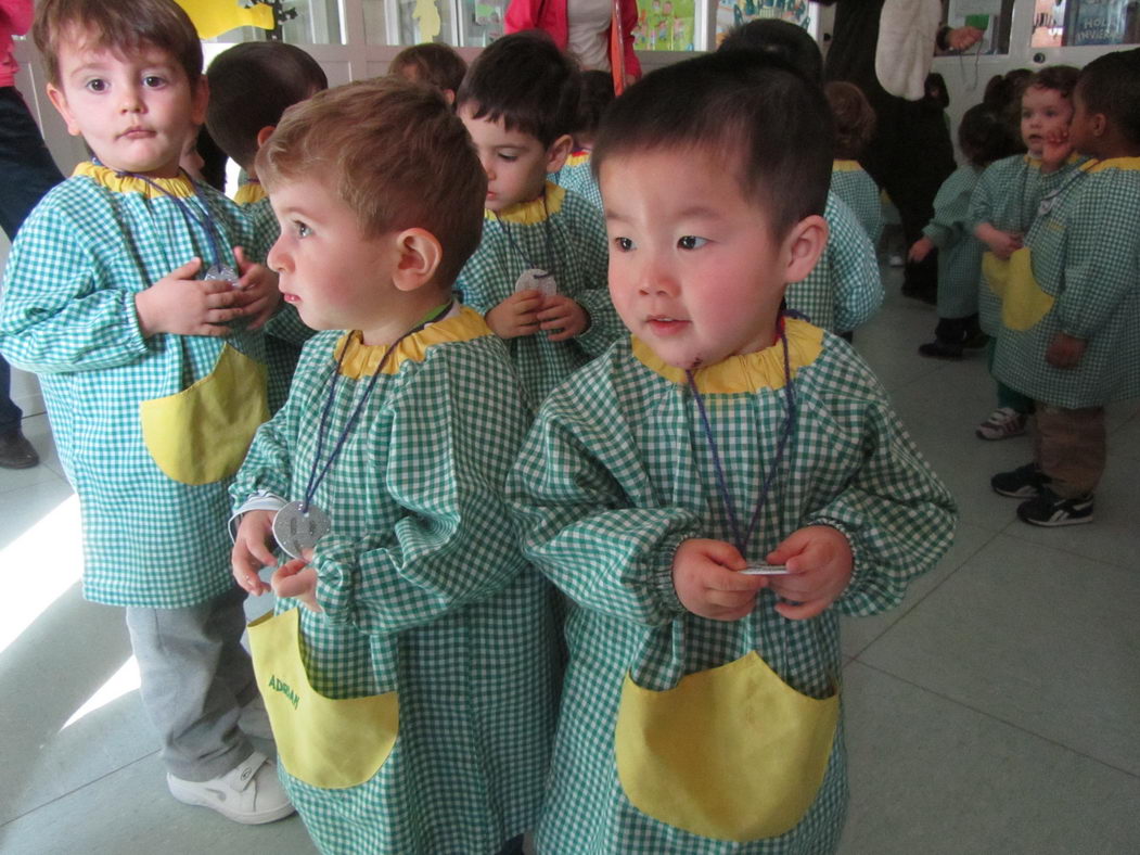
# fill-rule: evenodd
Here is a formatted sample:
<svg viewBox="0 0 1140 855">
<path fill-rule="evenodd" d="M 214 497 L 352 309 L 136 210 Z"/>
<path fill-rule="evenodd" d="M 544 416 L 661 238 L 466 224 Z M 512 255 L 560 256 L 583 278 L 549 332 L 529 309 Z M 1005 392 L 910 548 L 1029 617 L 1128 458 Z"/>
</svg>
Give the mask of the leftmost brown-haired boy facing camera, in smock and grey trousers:
<svg viewBox="0 0 1140 855">
<path fill-rule="evenodd" d="M 43 0 L 33 34 L 48 97 L 96 160 L 16 237 L 0 348 L 40 375 L 83 514 L 83 595 L 125 606 L 171 793 L 270 822 L 293 808 L 243 727 L 268 732 L 239 726 L 258 689 L 219 529 L 267 416 L 254 329 L 276 277 L 235 246 L 252 238 L 236 206 L 179 169 L 207 98 L 181 8 Z"/>
</svg>

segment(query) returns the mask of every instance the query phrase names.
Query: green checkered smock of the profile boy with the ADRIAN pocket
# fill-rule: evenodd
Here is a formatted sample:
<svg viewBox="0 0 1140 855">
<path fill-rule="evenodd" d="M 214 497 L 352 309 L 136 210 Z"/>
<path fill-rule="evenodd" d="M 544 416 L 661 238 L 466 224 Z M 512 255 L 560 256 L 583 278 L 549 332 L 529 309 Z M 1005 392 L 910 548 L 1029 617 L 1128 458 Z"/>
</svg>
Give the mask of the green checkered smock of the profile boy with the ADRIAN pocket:
<svg viewBox="0 0 1140 855">
<path fill-rule="evenodd" d="M 357 787 L 282 779 L 321 852 L 494 855 L 535 823 L 556 711 L 554 594 L 503 496 L 530 415 L 471 309 L 405 339 L 369 394 L 385 350 L 317 333 L 233 489 L 238 506 L 258 490 L 301 499 L 365 401 L 312 499 L 332 531 L 314 560 L 325 611 L 300 611 L 303 661 L 331 698 L 397 692 L 399 735 Z"/>
</svg>

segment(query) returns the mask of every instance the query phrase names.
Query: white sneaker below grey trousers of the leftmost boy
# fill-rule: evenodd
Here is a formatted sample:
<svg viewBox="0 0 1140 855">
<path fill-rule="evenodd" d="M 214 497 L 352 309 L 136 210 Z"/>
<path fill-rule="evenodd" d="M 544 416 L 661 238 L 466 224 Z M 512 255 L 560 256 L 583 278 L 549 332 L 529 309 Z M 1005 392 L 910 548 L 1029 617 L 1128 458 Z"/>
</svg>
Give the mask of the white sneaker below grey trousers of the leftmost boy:
<svg viewBox="0 0 1140 855">
<path fill-rule="evenodd" d="M 245 825 L 274 822 L 293 813 L 277 780 L 276 764 L 260 751 L 212 781 L 184 781 L 168 772 L 166 787 L 184 804 L 209 807 Z"/>
</svg>

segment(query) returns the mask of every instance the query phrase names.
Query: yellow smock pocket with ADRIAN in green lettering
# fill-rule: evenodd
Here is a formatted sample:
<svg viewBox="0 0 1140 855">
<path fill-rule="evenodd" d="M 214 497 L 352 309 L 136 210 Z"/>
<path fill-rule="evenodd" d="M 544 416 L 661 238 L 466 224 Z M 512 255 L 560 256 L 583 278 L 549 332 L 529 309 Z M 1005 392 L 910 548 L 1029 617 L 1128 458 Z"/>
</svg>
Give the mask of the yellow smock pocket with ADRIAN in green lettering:
<svg viewBox="0 0 1140 855">
<path fill-rule="evenodd" d="M 312 787 L 336 790 L 370 780 L 399 730 L 396 692 L 334 700 L 309 684 L 301 661 L 300 613 L 290 609 L 250 624 L 258 687 L 282 765 Z"/>
</svg>

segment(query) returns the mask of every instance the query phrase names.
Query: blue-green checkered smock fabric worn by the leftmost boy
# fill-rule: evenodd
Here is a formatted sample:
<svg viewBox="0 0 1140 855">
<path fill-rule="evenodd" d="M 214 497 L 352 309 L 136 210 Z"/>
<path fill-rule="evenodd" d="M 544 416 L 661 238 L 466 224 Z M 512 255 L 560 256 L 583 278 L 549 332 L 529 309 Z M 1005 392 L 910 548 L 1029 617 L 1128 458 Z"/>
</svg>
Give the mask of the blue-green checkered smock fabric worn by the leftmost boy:
<svg viewBox="0 0 1140 855">
<path fill-rule="evenodd" d="M 261 333 L 230 339 L 158 334 L 144 339 L 135 295 L 197 255 L 210 264 L 204 228 L 179 203 L 91 164 L 55 187 L 25 221 L 8 258 L 0 350 L 40 375 L 52 435 L 80 497 L 87 598 L 109 605 L 182 608 L 228 591 L 228 481 L 168 478 L 144 445 L 142 401 L 202 380 L 228 341 L 264 360 Z M 185 179 L 163 184 L 209 219 L 223 253 L 250 245 L 244 217 L 221 194 Z M 189 427 L 189 426 L 188 426 Z"/>
</svg>

